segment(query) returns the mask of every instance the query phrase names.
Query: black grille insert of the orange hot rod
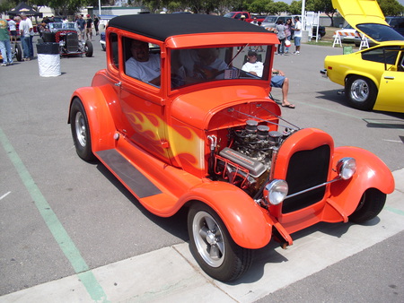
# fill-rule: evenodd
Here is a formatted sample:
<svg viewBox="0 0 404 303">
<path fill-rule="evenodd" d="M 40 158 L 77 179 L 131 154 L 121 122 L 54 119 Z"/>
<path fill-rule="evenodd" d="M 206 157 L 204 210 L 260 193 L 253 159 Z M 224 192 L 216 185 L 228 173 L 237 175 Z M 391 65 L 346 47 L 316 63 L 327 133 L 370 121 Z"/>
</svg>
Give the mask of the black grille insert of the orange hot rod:
<svg viewBox="0 0 404 303">
<path fill-rule="evenodd" d="M 312 150 L 295 152 L 290 158 L 286 182 L 289 186 L 288 195 L 298 193 L 312 186 L 327 182 L 329 172 L 330 147 L 321 145 Z M 286 198 L 282 212 L 295 212 L 321 201 L 326 186 L 313 189 L 306 193 Z"/>
</svg>

